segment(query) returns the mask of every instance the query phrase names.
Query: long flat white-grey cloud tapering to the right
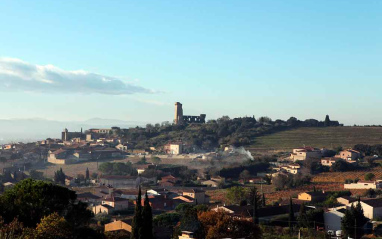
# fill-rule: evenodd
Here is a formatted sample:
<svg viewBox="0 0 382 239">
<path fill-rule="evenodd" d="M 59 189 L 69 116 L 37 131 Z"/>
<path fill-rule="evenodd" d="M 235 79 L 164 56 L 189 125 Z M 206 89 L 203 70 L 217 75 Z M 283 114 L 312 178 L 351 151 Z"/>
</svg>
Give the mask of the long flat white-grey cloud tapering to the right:
<svg viewBox="0 0 382 239">
<path fill-rule="evenodd" d="M 53 65 L 34 65 L 20 59 L 4 57 L 0 57 L 0 91 L 108 95 L 154 93 L 115 77 L 83 70 L 66 71 Z"/>
</svg>

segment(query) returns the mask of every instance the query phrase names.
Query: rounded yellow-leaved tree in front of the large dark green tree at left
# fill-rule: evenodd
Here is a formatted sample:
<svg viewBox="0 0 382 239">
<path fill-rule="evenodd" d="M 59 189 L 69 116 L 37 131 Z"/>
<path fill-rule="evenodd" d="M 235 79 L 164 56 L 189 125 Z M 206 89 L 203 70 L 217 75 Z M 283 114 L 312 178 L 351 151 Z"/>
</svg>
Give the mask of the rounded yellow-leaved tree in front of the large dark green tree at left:
<svg viewBox="0 0 382 239">
<path fill-rule="evenodd" d="M 66 239 L 71 237 L 69 223 L 58 213 L 52 213 L 41 219 L 35 230 L 36 239 Z"/>
</svg>

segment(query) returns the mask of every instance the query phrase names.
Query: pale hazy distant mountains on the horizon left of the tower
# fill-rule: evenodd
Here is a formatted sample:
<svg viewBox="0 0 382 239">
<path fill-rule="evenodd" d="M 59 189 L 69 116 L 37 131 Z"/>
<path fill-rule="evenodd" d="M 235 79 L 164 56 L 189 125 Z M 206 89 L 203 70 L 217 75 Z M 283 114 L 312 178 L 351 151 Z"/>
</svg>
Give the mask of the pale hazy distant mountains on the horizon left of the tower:
<svg viewBox="0 0 382 239">
<path fill-rule="evenodd" d="M 54 121 L 41 118 L 0 119 L 0 144 L 60 138 L 64 128 L 69 131 L 80 131 L 82 127 L 85 131 L 90 128 L 110 128 L 112 126 L 131 128 L 144 125 L 146 122 L 102 118 L 85 121 Z"/>
</svg>

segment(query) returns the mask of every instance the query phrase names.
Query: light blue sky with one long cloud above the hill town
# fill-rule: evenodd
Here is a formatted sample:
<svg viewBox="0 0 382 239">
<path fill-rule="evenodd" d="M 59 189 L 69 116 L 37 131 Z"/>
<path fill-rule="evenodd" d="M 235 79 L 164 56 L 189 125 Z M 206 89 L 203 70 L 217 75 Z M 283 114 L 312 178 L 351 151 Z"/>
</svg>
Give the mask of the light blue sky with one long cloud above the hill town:
<svg viewBox="0 0 382 239">
<path fill-rule="evenodd" d="M 382 124 L 379 0 L 0 1 L 1 119 Z"/>
</svg>

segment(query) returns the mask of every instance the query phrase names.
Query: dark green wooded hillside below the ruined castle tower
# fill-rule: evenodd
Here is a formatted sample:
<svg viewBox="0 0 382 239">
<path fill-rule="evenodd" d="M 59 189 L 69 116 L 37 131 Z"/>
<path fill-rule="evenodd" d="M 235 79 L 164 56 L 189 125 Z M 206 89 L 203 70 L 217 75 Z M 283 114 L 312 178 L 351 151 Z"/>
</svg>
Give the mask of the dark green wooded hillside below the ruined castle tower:
<svg viewBox="0 0 382 239">
<path fill-rule="evenodd" d="M 169 122 L 147 124 L 145 128 L 130 128 L 120 134 L 135 148 L 141 149 L 163 146 L 168 141 L 176 140 L 182 140 L 199 149 L 211 149 L 220 145 L 248 145 L 257 136 L 295 127 L 339 125 L 336 121 L 329 120 L 327 123 L 315 119 L 300 121 L 295 117 L 291 117 L 287 121 L 273 121 L 269 117 L 230 119 L 228 116 L 223 116 L 217 120 L 209 120 L 206 124 L 173 125 Z"/>
</svg>

